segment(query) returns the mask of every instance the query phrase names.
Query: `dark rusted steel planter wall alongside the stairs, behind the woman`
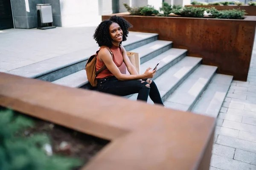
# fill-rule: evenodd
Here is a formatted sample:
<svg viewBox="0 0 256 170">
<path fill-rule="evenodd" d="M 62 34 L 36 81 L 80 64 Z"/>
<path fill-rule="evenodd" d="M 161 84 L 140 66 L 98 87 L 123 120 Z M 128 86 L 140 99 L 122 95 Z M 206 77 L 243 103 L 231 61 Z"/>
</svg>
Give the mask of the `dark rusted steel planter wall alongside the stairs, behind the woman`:
<svg viewBox="0 0 256 170">
<path fill-rule="evenodd" d="M 114 15 L 114 14 L 113 14 Z M 119 14 L 116 14 L 119 15 Z M 247 81 L 256 27 L 256 17 L 244 20 L 187 17 L 144 17 L 121 13 L 132 25 L 130 31 L 159 34 L 173 48 L 188 50 L 188 56 L 203 58 L 203 64 L 218 67 L 220 74 Z M 111 15 L 102 16 L 107 20 Z"/>
</svg>

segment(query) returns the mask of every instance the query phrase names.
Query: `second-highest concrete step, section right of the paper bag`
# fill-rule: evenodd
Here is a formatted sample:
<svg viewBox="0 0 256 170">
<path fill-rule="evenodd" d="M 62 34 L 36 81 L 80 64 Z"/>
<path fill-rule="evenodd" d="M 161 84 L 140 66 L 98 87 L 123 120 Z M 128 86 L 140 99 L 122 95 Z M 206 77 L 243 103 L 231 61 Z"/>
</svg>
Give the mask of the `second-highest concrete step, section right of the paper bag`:
<svg viewBox="0 0 256 170">
<path fill-rule="evenodd" d="M 157 40 L 146 45 L 143 45 L 139 48 L 131 50 L 134 53 L 139 53 L 140 55 L 140 64 L 147 62 L 150 59 L 162 54 L 163 52 L 172 48 L 171 41 Z M 127 51 L 127 50 L 126 50 Z"/>
</svg>

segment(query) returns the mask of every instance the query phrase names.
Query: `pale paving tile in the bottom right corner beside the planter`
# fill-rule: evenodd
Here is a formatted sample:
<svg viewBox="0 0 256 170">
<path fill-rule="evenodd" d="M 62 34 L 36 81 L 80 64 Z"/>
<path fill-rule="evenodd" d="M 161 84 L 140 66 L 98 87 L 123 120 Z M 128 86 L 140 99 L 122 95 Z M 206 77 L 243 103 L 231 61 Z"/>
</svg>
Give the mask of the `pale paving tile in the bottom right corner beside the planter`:
<svg viewBox="0 0 256 170">
<path fill-rule="evenodd" d="M 222 170 L 256 170 L 256 165 L 212 154 L 210 166 Z"/>
</svg>

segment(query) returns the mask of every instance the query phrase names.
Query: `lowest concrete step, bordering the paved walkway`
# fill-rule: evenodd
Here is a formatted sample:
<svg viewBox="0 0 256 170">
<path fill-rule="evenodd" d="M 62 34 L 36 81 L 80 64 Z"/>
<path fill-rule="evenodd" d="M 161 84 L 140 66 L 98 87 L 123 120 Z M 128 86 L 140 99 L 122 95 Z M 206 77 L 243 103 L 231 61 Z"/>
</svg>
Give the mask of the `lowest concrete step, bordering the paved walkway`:
<svg viewBox="0 0 256 170">
<path fill-rule="evenodd" d="M 192 112 L 217 118 L 232 79 L 233 76 L 215 74 L 207 89 L 196 102 Z"/>
</svg>

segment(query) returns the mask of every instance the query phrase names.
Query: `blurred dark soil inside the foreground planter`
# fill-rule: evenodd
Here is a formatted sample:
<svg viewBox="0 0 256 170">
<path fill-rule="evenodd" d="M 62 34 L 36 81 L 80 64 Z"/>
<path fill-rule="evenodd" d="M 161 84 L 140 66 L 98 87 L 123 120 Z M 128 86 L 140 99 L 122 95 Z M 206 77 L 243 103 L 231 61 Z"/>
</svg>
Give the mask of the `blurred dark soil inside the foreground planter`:
<svg viewBox="0 0 256 170">
<path fill-rule="evenodd" d="M 35 127 L 23 130 L 24 136 L 31 136 L 35 133 L 45 133 L 49 136 L 52 145 L 53 154 L 79 158 L 86 164 L 99 150 L 101 150 L 108 140 L 90 136 L 76 130 L 52 124 L 41 119 L 32 118 L 35 121 Z M 59 150 L 61 142 L 67 142 L 65 150 Z M 79 170 L 76 167 L 73 170 Z"/>
</svg>

